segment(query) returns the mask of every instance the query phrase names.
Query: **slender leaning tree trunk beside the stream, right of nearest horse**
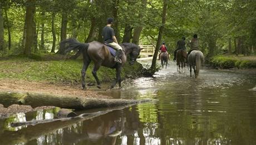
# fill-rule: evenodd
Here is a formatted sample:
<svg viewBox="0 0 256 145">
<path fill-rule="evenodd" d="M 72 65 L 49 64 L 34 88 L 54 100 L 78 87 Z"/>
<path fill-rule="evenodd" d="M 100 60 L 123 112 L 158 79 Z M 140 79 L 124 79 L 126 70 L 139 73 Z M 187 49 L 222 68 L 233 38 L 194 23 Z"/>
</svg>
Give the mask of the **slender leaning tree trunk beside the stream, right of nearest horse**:
<svg viewBox="0 0 256 145">
<path fill-rule="evenodd" d="M 162 35 L 163 35 L 163 32 L 164 32 L 164 25 L 165 25 L 165 21 L 166 21 L 167 0 L 163 0 L 163 1 L 164 1 L 164 6 L 163 6 L 163 14 L 162 14 L 162 24 L 159 28 L 159 33 L 158 33 L 158 38 L 157 38 L 157 43 L 156 43 L 154 56 L 153 56 L 153 59 L 152 59 L 151 69 L 156 68 L 156 58 L 157 58 L 157 54 L 158 54 L 158 49 L 161 45 L 161 39 L 162 39 Z"/>
</svg>

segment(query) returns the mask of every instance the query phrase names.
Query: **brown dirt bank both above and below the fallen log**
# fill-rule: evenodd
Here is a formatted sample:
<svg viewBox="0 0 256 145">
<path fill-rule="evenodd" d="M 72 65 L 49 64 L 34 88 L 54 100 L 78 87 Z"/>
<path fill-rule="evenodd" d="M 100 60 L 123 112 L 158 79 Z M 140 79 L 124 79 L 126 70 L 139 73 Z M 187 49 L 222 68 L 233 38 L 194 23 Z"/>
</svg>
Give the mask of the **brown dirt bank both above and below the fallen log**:
<svg viewBox="0 0 256 145">
<path fill-rule="evenodd" d="M 51 83 L 51 82 L 31 82 L 31 81 L 14 81 L 11 79 L 0 80 L 0 91 L 15 91 L 15 92 L 29 92 L 29 93 L 43 93 L 43 94 L 57 94 L 63 96 L 81 96 L 81 97 L 93 97 L 93 98 L 109 98 L 97 94 L 93 91 L 83 91 L 80 84 L 71 83 Z M 0 104 L 0 118 L 6 114 L 13 114 L 19 112 L 36 111 L 38 109 L 48 109 L 53 106 L 42 106 L 32 108 L 31 106 L 13 104 L 8 108 L 4 108 Z"/>
</svg>

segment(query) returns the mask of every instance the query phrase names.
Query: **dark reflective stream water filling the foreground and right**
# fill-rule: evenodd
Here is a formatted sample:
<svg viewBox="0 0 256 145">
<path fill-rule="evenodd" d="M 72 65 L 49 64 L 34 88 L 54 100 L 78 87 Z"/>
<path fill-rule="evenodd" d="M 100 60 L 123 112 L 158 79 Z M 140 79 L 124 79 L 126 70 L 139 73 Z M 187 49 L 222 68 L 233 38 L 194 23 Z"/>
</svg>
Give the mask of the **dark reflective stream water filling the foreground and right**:
<svg viewBox="0 0 256 145">
<path fill-rule="evenodd" d="M 256 144 L 256 92 L 248 90 L 255 84 L 255 73 L 203 69 L 195 79 L 171 63 L 155 78 L 100 92 L 152 102 L 87 120 L 12 128 L 9 122 L 53 118 L 55 111 L 20 113 L 0 120 L 0 144 Z"/>
</svg>

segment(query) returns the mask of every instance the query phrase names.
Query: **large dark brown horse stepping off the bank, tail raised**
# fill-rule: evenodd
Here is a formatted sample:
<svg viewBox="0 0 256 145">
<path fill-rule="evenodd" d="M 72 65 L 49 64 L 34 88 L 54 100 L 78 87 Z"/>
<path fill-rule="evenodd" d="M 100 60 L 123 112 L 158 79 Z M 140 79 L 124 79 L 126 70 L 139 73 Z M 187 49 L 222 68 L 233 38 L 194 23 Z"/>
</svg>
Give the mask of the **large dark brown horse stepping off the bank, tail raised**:
<svg viewBox="0 0 256 145">
<path fill-rule="evenodd" d="M 136 58 L 140 54 L 140 47 L 132 43 L 123 43 L 121 47 L 123 48 L 122 52 L 122 63 L 114 62 L 114 57 L 111 55 L 109 49 L 100 42 L 90 42 L 90 43 L 80 43 L 76 39 L 70 38 L 61 42 L 61 47 L 66 47 L 66 53 L 74 49 L 78 49 L 80 53 L 83 54 L 83 67 L 82 67 L 82 88 L 85 87 L 85 75 L 86 70 L 91 61 L 94 62 L 94 67 L 92 70 L 93 77 L 96 79 L 97 87 L 101 88 L 101 83 L 97 77 L 97 71 L 100 66 L 115 68 L 116 69 L 116 79 L 112 83 L 110 88 L 114 88 L 116 83 L 119 82 L 119 88 L 121 88 L 121 68 L 124 66 L 124 63 L 127 60 L 127 55 L 130 56 L 130 64 L 133 64 L 136 61 Z"/>
</svg>

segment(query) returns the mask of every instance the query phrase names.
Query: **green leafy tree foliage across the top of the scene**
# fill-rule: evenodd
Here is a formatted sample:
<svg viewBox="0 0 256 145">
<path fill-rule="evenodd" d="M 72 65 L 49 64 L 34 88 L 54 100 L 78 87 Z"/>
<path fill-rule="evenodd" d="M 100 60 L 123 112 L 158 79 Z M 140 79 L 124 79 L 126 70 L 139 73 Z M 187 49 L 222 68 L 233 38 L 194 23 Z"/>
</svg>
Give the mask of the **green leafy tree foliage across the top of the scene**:
<svg viewBox="0 0 256 145">
<path fill-rule="evenodd" d="M 146 3 L 146 4 L 145 4 Z M 117 4 L 117 5 L 116 5 Z M 7 44 L 7 26 L 11 28 L 12 48 L 3 55 L 23 52 L 22 37 L 24 28 L 26 1 L 3 1 L 1 8 L 7 10 L 4 14 L 4 39 Z M 232 39 L 232 52 L 234 52 L 234 39 L 243 38 L 241 44 L 244 48 L 256 48 L 256 1 L 244 0 L 196 0 L 196 1 L 168 1 L 166 24 L 164 26 L 162 41 L 165 41 L 169 52 L 173 52 L 176 42 L 183 36 L 189 42 L 194 33 L 200 40 L 200 49 L 205 56 L 220 54 L 228 48 L 228 40 Z M 93 40 L 101 41 L 101 29 L 106 24 L 107 17 L 115 17 L 120 37 L 124 36 L 125 27 L 143 27 L 140 35 L 140 44 L 154 44 L 156 46 L 159 27 L 161 26 L 161 13 L 163 1 L 131 1 L 131 0 L 41 0 L 36 1 L 35 22 L 37 28 L 37 43 L 41 43 L 41 23 L 45 23 L 45 50 L 52 47 L 51 16 L 56 14 L 54 26 L 56 28 L 57 46 L 60 42 L 62 12 L 68 13 L 67 37 L 76 37 L 85 42 L 91 29 L 92 19 L 95 20 Z M 114 26 L 115 27 L 115 26 Z M 92 40 L 91 39 L 91 40 Z M 122 38 L 120 38 L 122 39 Z M 249 49 L 248 49 L 249 50 Z M 39 53 L 39 52 L 38 52 Z M 240 52 L 241 53 L 241 52 Z M 249 51 L 250 53 L 250 51 Z M 207 55 L 209 54 L 209 55 Z"/>
</svg>

